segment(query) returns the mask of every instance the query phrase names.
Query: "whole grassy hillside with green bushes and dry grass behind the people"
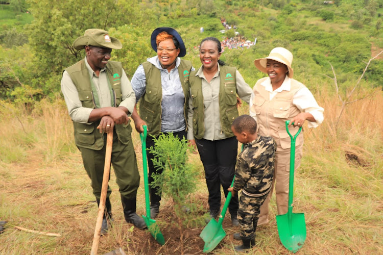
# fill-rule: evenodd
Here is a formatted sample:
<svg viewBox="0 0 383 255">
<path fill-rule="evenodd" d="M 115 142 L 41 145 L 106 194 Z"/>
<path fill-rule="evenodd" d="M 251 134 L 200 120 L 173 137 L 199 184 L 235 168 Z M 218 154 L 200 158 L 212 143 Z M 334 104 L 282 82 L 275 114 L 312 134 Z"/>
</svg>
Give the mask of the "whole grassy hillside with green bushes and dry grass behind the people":
<svg viewBox="0 0 383 255">
<path fill-rule="evenodd" d="M 207 36 L 224 39 L 231 33 L 220 32 L 220 18 L 236 25 L 247 39 L 257 38 L 255 46 L 225 49 L 221 58 L 237 67 L 251 87 L 265 76 L 255 68 L 254 59 L 283 46 L 294 54 L 294 77 L 325 108 L 325 120 L 317 129 L 304 127 L 294 212 L 305 215 L 307 239 L 297 254 L 382 254 L 383 54 L 359 79 L 369 60 L 383 49 L 383 29 L 377 29 L 383 9 L 378 8 L 381 1 L 342 0 L 336 1 L 338 6 L 322 2 L 106 0 L 92 2 L 95 9 L 90 9 L 75 1 L 30 0 L 33 20 L 30 14 L 16 14 L 0 5 L 0 221 L 8 221 L 0 234 L 0 254 L 90 251 L 97 204 L 59 93 L 62 69 L 83 57 L 69 48 L 86 25 L 106 24 L 110 34 L 123 41 L 123 49 L 113 51 L 113 60 L 121 61 L 132 77 L 139 63 L 154 56 L 149 39 L 158 26 L 176 28 L 187 47 L 185 59 L 199 67 L 200 41 Z M 110 11 L 107 20 L 105 10 Z M 240 112 L 247 114 L 248 106 Z M 132 139 L 141 175 L 141 215 L 145 196 L 135 131 Z M 190 155 L 190 161 L 200 172 L 198 191 L 190 199 L 202 207 L 202 215 L 208 209 L 203 167 L 198 155 Z M 114 226 L 101 239 L 99 253 L 117 247 L 127 254 L 202 253 L 199 234 L 205 225 L 186 224 L 181 243 L 173 228 L 171 199 L 164 198 L 157 219 L 167 241 L 159 246 L 148 232 L 124 221 L 113 171 L 109 184 Z M 279 241 L 275 197 L 271 211 L 270 223 L 258 228 L 257 246 L 249 254 L 289 253 Z M 213 254 L 233 254 L 240 244 L 232 238 L 238 228 L 228 219 L 223 226 L 227 237 Z"/>
</svg>

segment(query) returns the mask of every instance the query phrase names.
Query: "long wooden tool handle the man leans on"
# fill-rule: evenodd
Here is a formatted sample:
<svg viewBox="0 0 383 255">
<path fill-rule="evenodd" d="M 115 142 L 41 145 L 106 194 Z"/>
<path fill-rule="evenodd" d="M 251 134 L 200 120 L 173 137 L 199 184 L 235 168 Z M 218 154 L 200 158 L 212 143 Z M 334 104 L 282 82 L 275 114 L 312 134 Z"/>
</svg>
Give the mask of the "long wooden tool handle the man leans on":
<svg viewBox="0 0 383 255">
<path fill-rule="evenodd" d="M 102 187 L 101 187 L 99 212 L 97 214 L 96 226 L 94 228 L 92 250 L 90 251 L 91 255 L 97 255 L 97 250 L 99 249 L 101 226 L 103 223 L 104 210 L 105 210 L 106 193 L 108 191 L 110 160 L 112 157 L 112 145 L 113 145 L 113 131 L 108 133 L 108 136 L 106 139 L 106 152 L 105 152 L 103 183 L 102 183 Z"/>
</svg>

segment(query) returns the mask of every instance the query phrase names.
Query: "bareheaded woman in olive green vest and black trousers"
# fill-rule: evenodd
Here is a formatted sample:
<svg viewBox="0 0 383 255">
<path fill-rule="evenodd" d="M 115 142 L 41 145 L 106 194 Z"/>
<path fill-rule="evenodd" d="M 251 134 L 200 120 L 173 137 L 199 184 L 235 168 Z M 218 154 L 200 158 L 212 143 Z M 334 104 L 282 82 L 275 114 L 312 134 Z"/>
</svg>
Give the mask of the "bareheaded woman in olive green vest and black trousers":
<svg viewBox="0 0 383 255">
<path fill-rule="evenodd" d="M 203 39 L 200 44 L 202 66 L 189 77 L 187 139 L 197 146 L 204 166 L 212 218 L 220 213 L 221 185 L 227 196 L 234 177 L 238 142 L 231 123 L 238 117 L 236 94 L 249 103 L 252 93 L 240 72 L 219 60 L 221 52 L 217 38 Z M 233 196 L 229 204 L 233 225 L 238 225 L 237 211 L 238 196 Z"/>
</svg>

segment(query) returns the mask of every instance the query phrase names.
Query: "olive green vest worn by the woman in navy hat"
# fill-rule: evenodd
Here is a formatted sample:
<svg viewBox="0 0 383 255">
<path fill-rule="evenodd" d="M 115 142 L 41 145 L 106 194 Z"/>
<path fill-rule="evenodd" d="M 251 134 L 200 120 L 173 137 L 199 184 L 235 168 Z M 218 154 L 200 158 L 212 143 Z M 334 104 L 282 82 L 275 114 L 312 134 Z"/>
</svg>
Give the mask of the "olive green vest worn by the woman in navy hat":
<svg viewBox="0 0 383 255">
<path fill-rule="evenodd" d="M 143 119 L 149 130 L 149 135 L 157 137 L 161 132 L 161 101 L 162 101 L 162 85 L 161 72 L 150 62 L 142 63 L 146 77 L 146 92 L 139 101 L 139 116 Z M 187 129 L 187 104 L 188 104 L 188 85 L 190 71 L 192 70 L 192 62 L 181 60 L 178 66 L 178 74 L 181 81 L 183 94 L 185 96 L 185 104 L 183 105 L 183 114 L 185 116 Z"/>
</svg>

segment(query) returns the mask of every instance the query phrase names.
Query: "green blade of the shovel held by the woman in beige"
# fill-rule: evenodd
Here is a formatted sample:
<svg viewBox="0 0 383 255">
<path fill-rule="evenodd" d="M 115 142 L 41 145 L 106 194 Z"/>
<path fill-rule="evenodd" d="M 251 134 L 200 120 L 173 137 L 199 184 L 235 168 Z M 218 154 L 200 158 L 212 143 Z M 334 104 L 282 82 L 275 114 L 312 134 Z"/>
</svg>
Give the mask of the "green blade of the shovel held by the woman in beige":
<svg viewBox="0 0 383 255">
<path fill-rule="evenodd" d="M 303 213 L 277 215 L 278 234 L 286 249 L 297 252 L 306 240 L 306 223 Z"/>
</svg>

